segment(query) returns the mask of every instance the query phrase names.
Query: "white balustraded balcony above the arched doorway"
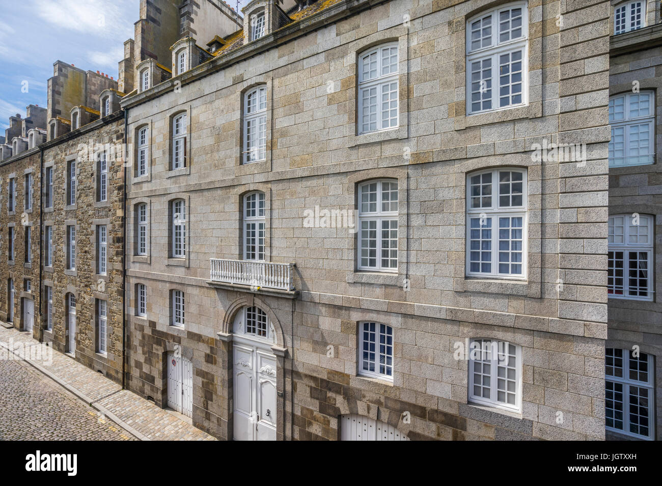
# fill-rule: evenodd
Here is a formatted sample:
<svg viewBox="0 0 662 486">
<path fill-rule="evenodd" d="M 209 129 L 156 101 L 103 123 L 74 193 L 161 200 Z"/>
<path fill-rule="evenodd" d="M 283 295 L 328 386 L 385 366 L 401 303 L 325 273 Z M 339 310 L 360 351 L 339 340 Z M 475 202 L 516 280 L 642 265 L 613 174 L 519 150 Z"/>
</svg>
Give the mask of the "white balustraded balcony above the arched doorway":
<svg viewBox="0 0 662 486">
<path fill-rule="evenodd" d="M 293 263 L 211 259 L 211 282 L 291 292 Z M 257 290 L 257 289 L 255 289 Z"/>
</svg>

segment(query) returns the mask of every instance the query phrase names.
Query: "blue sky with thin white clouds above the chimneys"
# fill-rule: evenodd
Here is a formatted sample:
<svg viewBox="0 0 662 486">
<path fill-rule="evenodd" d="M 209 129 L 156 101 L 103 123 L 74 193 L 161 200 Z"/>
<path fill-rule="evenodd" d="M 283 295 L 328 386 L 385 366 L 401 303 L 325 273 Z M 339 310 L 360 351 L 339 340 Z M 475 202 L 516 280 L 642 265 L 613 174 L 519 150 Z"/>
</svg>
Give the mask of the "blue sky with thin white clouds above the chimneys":
<svg viewBox="0 0 662 486">
<path fill-rule="evenodd" d="M 177 0 L 175 0 L 177 1 Z M 179 3 L 179 2 L 178 2 Z M 236 8 L 237 0 L 228 3 Z M 241 9 L 248 0 L 240 0 Z M 57 60 L 117 79 L 140 0 L 13 0 L 0 17 L 0 130 L 28 104 L 46 106 Z"/>
</svg>

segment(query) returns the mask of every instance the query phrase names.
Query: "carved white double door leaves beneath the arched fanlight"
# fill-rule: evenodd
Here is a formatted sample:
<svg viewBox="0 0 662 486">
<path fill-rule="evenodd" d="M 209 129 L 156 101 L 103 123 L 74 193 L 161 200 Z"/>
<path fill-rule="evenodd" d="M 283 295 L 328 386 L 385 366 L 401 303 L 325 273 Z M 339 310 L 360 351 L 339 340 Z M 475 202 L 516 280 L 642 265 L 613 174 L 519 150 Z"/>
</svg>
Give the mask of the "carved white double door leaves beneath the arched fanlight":
<svg viewBox="0 0 662 486">
<path fill-rule="evenodd" d="M 276 357 L 234 340 L 234 440 L 276 440 Z"/>
</svg>

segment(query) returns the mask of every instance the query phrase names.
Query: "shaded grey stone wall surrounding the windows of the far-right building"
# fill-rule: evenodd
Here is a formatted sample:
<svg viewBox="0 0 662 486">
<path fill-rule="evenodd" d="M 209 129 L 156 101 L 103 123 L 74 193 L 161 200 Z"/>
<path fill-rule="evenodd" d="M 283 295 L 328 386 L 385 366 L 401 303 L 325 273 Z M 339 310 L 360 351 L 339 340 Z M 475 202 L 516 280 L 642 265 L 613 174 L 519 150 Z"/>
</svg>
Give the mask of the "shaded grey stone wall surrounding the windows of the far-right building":
<svg viewBox="0 0 662 486">
<path fill-rule="evenodd" d="M 650 17 L 649 17 L 650 20 Z M 659 20 L 659 19 L 658 19 Z M 628 34 L 623 34 L 628 36 Z M 662 122 L 659 119 L 659 106 L 662 106 L 662 48 L 634 48 L 629 54 L 613 56 L 610 60 L 610 94 L 618 95 L 632 91 L 633 81 L 639 82 L 639 89 L 653 90 L 654 106 L 657 107 L 655 134 L 660 134 Z M 609 331 L 606 346 L 632 349 L 639 346 L 641 352 L 652 354 L 655 364 L 655 407 L 657 417 L 656 437 L 662 436 L 662 306 L 659 296 L 662 292 L 662 167 L 660 153 L 662 140 L 657 136 L 655 164 L 636 167 L 618 167 L 609 171 L 609 212 L 610 214 L 653 214 L 655 225 L 655 255 L 653 261 L 653 302 L 639 300 L 609 300 Z M 608 436 L 622 440 L 608 432 Z"/>
</svg>

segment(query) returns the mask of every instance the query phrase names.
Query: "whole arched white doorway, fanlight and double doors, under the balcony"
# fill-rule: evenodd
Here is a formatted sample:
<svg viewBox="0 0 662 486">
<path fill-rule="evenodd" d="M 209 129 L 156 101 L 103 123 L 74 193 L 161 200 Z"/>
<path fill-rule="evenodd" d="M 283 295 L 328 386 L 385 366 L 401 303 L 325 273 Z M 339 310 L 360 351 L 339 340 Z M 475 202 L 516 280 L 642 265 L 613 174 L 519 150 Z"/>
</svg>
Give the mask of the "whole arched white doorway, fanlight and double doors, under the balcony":
<svg viewBox="0 0 662 486">
<path fill-rule="evenodd" d="M 234 439 L 276 440 L 276 343 L 273 324 L 256 305 L 234 317 Z"/>
</svg>

